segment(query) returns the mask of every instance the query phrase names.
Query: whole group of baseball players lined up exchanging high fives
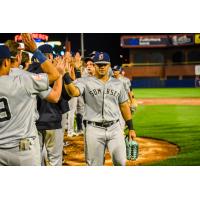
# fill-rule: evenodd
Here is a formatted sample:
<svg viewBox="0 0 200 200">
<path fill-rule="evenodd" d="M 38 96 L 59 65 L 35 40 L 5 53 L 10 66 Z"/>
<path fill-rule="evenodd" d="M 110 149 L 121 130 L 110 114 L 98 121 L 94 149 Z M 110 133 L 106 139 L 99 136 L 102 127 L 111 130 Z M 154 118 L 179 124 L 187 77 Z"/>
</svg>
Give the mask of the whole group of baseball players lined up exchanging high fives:
<svg viewBox="0 0 200 200">
<path fill-rule="evenodd" d="M 136 137 L 137 105 L 122 68 L 105 52 L 58 56 L 31 34 L 22 39 L 23 51 L 12 40 L 0 46 L 0 165 L 61 166 L 66 133 L 84 135 L 88 165 L 103 165 L 106 148 L 125 165 L 123 132 Z"/>
</svg>

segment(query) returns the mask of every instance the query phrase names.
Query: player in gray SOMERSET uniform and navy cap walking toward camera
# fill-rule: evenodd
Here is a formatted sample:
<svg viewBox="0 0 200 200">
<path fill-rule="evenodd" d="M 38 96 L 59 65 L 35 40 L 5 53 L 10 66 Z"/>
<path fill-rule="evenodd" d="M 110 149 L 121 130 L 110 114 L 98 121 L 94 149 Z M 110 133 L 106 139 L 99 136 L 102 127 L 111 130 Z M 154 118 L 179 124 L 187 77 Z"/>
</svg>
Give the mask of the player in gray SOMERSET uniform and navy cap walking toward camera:
<svg viewBox="0 0 200 200">
<path fill-rule="evenodd" d="M 120 112 L 128 128 L 129 138 L 134 139 L 132 116 L 128 97 L 121 81 L 109 77 L 110 58 L 98 53 L 93 58 L 96 74 L 77 79 L 75 85 L 65 75 L 66 88 L 73 96 L 83 95 L 85 100 L 85 156 L 88 165 L 101 166 L 108 147 L 114 165 L 126 164 L 126 147 L 123 130 L 119 124 Z"/>
</svg>

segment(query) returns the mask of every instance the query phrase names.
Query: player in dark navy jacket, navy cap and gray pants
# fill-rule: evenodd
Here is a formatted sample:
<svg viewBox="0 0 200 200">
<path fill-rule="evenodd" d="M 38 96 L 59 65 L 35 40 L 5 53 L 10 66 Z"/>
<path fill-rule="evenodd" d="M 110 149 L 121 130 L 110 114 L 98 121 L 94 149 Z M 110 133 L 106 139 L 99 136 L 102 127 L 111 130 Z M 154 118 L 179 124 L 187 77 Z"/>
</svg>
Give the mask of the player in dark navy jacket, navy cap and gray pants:
<svg viewBox="0 0 200 200">
<path fill-rule="evenodd" d="M 38 49 L 44 53 L 51 62 L 53 62 L 53 48 L 50 45 L 44 44 Z M 35 73 L 38 73 L 39 69 L 40 66 L 37 67 L 36 71 L 34 70 L 34 65 L 29 67 L 29 71 Z M 60 99 L 57 103 L 50 103 L 41 98 L 37 99 L 37 109 L 40 116 L 36 121 L 36 127 L 39 134 L 40 150 L 43 152 L 44 149 L 47 153 L 47 155 L 42 156 L 42 161 L 44 160 L 44 157 L 46 157 L 46 165 L 62 165 L 64 137 L 62 115 L 68 111 L 68 99 L 66 96 L 68 95 L 63 87 Z"/>
</svg>

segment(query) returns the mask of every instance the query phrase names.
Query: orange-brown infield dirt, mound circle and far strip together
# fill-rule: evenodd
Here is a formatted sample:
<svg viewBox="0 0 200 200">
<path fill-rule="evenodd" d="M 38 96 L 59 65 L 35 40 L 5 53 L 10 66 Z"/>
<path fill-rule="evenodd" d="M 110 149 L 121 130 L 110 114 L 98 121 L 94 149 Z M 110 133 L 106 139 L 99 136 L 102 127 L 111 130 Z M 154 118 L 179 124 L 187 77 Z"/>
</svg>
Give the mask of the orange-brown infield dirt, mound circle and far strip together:
<svg viewBox="0 0 200 200">
<path fill-rule="evenodd" d="M 154 99 L 138 99 L 139 105 L 200 105 L 199 98 L 154 98 Z M 63 152 L 63 165 L 67 166 L 84 166 L 84 137 L 67 137 L 65 141 L 69 143 L 64 147 Z M 149 139 L 149 138 L 137 138 L 139 143 L 139 157 L 136 161 L 127 161 L 128 166 L 144 165 L 160 160 L 167 159 L 169 157 L 176 156 L 179 152 L 179 148 L 175 144 L 171 144 L 167 141 Z M 105 165 L 112 165 L 109 152 L 106 151 Z"/>
</svg>

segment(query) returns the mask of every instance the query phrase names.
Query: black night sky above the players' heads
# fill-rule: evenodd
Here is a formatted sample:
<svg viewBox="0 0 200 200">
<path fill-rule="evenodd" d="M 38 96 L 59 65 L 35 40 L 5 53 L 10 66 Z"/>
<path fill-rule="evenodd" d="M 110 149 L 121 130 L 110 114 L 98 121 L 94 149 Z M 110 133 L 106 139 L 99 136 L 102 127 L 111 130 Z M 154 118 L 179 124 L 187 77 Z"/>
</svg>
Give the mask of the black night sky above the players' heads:
<svg viewBox="0 0 200 200">
<path fill-rule="evenodd" d="M 7 39 L 14 39 L 17 33 L 1 33 L 0 42 L 5 42 Z M 71 41 L 72 51 L 80 50 L 80 33 L 45 33 L 49 35 L 49 41 L 60 40 L 64 44 L 66 38 Z M 128 57 L 128 50 L 120 47 L 119 33 L 85 33 L 84 47 L 85 55 L 92 51 L 105 51 L 111 57 L 112 65 L 120 64 L 120 54 L 125 58 Z"/>
</svg>

